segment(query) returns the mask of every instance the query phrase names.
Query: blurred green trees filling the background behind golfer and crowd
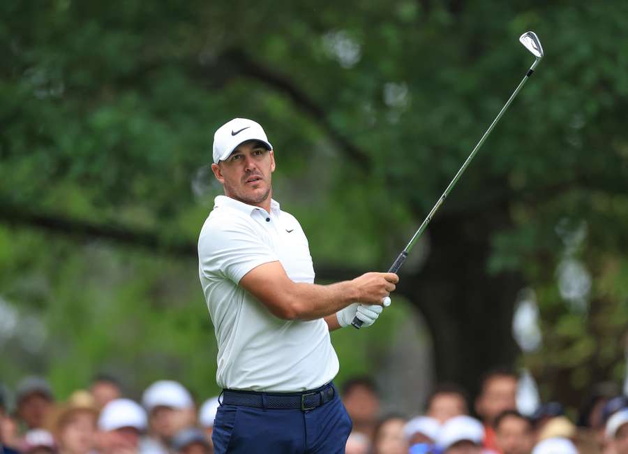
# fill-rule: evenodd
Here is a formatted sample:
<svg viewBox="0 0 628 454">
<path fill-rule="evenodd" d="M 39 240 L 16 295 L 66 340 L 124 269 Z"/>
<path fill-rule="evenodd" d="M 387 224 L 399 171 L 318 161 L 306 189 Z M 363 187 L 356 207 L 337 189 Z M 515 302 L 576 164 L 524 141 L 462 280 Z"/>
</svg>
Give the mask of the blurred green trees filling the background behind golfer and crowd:
<svg viewBox="0 0 628 454">
<path fill-rule="evenodd" d="M 622 1 L 0 3 L 0 364 L 58 397 L 94 374 L 216 395 L 196 241 L 214 131 L 255 119 L 317 279 L 385 270 L 546 57 L 401 271 L 340 330 L 338 383 L 415 413 L 513 367 L 575 411 L 628 356 L 628 6 Z M 538 395 L 536 394 L 538 391 Z M 534 397 L 537 396 L 537 397 Z M 572 413 L 573 414 L 573 413 Z"/>
</svg>

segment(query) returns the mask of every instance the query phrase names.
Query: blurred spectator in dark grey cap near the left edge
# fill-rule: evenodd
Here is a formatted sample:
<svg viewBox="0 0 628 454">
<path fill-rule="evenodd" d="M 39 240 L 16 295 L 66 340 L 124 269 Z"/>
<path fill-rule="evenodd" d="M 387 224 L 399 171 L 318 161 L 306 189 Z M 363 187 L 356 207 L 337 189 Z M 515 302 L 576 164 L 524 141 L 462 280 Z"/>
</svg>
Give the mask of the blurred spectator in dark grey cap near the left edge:
<svg viewBox="0 0 628 454">
<path fill-rule="evenodd" d="M 54 397 L 45 379 L 27 376 L 17 385 L 17 416 L 28 430 L 43 428 Z"/>
</svg>

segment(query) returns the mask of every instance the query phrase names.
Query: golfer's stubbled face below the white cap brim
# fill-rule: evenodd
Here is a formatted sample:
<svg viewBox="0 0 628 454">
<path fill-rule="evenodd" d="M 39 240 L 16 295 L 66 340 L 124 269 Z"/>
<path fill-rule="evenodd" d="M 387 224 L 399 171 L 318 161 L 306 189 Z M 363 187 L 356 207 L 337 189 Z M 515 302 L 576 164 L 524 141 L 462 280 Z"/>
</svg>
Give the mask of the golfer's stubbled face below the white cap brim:
<svg viewBox="0 0 628 454">
<path fill-rule="evenodd" d="M 260 205 L 271 196 L 271 174 L 275 157 L 260 142 L 250 140 L 218 164 L 211 164 L 216 179 L 223 184 L 225 196 L 248 205 Z"/>
</svg>

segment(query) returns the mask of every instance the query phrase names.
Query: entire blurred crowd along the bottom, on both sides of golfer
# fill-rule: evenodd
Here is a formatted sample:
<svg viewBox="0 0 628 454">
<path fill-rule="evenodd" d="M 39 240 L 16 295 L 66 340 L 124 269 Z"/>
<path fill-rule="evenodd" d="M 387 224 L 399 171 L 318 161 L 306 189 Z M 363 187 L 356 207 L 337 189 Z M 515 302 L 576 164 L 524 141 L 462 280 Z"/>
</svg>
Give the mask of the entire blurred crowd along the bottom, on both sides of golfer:
<svg viewBox="0 0 628 454">
<path fill-rule="evenodd" d="M 517 411 L 518 376 L 489 372 L 478 397 L 443 383 L 424 411 L 382 416 L 375 383 L 347 381 L 341 397 L 353 421 L 347 454 L 628 454 L 628 398 L 608 383 L 583 398 L 577 418 L 559 402 Z M 177 381 L 152 383 L 138 402 L 99 375 L 65 402 L 29 376 L 15 403 L 0 395 L 0 454 L 212 454 L 219 397 L 195 402 Z M 473 414 L 474 416 L 471 416 Z"/>
</svg>

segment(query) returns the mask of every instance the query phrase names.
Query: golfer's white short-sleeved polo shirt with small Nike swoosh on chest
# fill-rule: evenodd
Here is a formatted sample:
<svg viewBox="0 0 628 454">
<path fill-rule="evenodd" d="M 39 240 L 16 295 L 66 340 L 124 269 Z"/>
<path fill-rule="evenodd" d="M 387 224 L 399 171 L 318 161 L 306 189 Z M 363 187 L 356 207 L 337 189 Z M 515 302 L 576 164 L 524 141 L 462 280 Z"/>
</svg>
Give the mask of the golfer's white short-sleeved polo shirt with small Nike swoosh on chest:
<svg viewBox="0 0 628 454">
<path fill-rule="evenodd" d="M 238 285 L 262 263 L 279 261 L 292 281 L 314 281 L 299 221 L 271 201 L 271 212 L 226 196 L 214 200 L 198 240 L 200 281 L 218 341 L 222 388 L 301 391 L 338 373 L 327 323 L 287 321 Z"/>
</svg>

